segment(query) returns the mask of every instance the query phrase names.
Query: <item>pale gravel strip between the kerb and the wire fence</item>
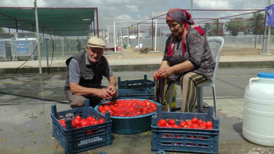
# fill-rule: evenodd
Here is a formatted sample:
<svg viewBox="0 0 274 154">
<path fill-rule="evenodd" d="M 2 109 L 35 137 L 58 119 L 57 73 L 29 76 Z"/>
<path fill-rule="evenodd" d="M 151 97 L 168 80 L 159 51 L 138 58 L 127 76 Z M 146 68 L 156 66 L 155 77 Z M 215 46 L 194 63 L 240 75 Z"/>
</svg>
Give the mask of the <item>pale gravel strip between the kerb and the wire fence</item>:
<svg viewBox="0 0 274 154">
<path fill-rule="evenodd" d="M 110 65 L 136 65 L 136 64 L 160 64 L 163 59 L 163 54 L 139 54 L 132 49 L 123 49 L 122 54 L 105 54 Z M 54 58 L 51 67 L 65 67 L 67 58 Z M 221 55 L 221 62 L 235 62 L 235 61 L 274 61 L 274 55 L 262 54 L 235 54 L 235 55 Z M 22 65 L 24 60 L 5 61 L 0 60 L 0 68 L 17 68 Z M 49 65 L 51 58 L 49 58 Z M 42 67 L 47 67 L 45 58 L 41 59 Z M 27 61 L 23 66 L 39 67 L 39 61 Z"/>
</svg>

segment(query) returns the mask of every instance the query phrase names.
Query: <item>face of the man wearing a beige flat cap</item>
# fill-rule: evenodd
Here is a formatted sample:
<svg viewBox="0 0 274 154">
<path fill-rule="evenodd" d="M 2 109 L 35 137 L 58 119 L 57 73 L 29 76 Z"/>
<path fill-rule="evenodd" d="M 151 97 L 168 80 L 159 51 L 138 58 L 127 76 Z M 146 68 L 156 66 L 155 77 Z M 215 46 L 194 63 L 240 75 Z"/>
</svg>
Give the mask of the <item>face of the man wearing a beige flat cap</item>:
<svg viewBox="0 0 274 154">
<path fill-rule="evenodd" d="M 104 49 L 100 47 L 86 46 L 86 53 L 91 65 L 94 65 L 102 57 Z"/>
</svg>

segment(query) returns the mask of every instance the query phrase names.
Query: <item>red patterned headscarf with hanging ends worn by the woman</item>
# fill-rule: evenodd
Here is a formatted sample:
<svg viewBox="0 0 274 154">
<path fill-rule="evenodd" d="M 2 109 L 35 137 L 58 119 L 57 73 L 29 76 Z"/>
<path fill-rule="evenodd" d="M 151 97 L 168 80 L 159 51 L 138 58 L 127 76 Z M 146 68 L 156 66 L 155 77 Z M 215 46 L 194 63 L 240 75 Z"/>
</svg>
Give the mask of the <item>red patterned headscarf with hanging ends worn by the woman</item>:
<svg viewBox="0 0 274 154">
<path fill-rule="evenodd" d="M 186 46 L 186 41 L 185 41 L 185 37 L 190 29 L 189 26 L 191 26 L 192 28 L 194 28 L 195 30 L 197 30 L 201 36 L 203 36 L 205 34 L 204 30 L 202 30 L 202 28 L 195 23 L 195 21 L 191 18 L 191 15 L 183 9 L 170 9 L 167 12 L 167 17 L 166 17 L 166 21 L 167 20 L 175 20 L 179 23 L 184 23 L 185 27 L 184 27 L 184 32 L 183 32 L 183 36 L 182 36 L 182 52 L 183 55 L 185 53 L 185 46 Z M 171 39 L 170 39 L 170 43 L 168 45 L 168 50 L 167 50 L 167 55 L 168 56 L 172 56 L 173 55 L 173 51 L 174 51 L 174 46 L 175 46 L 175 39 L 176 37 L 171 34 Z"/>
</svg>

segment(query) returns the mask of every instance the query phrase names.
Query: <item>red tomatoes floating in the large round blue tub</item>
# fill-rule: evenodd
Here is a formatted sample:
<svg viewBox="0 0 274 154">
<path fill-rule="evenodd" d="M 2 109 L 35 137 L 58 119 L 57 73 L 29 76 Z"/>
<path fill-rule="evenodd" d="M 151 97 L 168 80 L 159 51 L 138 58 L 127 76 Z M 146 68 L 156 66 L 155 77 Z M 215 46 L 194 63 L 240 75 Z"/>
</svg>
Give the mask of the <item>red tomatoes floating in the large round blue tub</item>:
<svg viewBox="0 0 274 154">
<path fill-rule="evenodd" d="M 156 104 L 149 100 L 116 100 L 100 105 L 98 111 L 102 114 L 109 111 L 115 117 L 135 117 L 155 112 Z"/>
</svg>

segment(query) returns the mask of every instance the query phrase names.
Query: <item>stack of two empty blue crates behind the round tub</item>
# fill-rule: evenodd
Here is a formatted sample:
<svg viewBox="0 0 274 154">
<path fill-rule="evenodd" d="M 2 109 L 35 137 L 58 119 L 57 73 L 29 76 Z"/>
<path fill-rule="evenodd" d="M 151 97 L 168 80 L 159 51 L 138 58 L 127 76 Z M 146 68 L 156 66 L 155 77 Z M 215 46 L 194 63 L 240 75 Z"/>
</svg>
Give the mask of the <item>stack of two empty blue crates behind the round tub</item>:
<svg viewBox="0 0 274 154">
<path fill-rule="evenodd" d="M 148 80 L 147 75 L 140 80 L 121 81 L 121 77 L 118 77 L 117 83 L 119 98 L 154 99 L 155 81 Z"/>
</svg>

